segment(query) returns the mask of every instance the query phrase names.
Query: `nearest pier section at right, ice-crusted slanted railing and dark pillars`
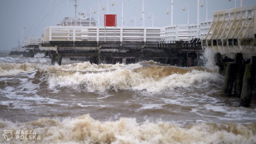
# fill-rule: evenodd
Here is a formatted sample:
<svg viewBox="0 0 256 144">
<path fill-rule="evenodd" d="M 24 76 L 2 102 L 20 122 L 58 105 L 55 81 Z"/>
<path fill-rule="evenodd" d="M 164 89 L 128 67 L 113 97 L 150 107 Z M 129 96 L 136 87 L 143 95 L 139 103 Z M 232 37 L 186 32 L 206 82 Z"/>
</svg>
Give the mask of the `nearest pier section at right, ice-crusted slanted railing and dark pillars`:
<svg viewBox="0 0 256 144">
<path fill-rule="evenodd" d="M 240 97 L 249 107 L 255 86 L 256 6 L 214 12 L 212 25 L 202 47 L 234 59 L 226 68 L 222 96 Z"/>
</svg>

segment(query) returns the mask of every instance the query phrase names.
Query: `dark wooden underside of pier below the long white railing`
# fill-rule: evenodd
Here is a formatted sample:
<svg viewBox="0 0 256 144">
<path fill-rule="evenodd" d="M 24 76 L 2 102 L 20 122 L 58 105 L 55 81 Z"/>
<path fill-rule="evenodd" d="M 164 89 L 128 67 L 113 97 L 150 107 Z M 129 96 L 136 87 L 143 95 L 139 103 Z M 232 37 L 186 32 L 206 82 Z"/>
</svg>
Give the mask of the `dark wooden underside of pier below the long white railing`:
<svg viewBox="0 0 256 144">
<path fill-rule="evenodd" d="M 196 66 L 202 53 L 201 43 L 186 46 L 183 41 L 174 44 L 158 42 L 92 42 L 92 41 L 50 41 L 42 48 L 54 48 L 45 52 L 52 58 L 52 64 L 61 64 L 62 57 L 91 63 L 116 64 L 136 63 L 154 60 L 176 66 Z M 46 49 L 44 49 L 46 50 Z"/>
</svg>

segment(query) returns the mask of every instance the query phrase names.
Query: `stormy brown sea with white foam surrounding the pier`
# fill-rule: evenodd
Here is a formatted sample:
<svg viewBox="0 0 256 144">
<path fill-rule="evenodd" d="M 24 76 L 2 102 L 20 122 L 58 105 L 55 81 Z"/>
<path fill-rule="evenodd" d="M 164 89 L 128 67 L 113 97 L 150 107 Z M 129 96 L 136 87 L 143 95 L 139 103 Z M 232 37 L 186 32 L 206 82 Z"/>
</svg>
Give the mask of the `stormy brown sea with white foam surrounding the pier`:
<svg viewBox="0 0 256 144">
<path fill-rule="evenodd" d="M 256 98 L 244 108 L 220 96 L 224 76 L 210 59 L 200 67 L 69 58 L 52 66 L 44 54 L 1 52 L 0 132 L 14 132 L 0 143 L 255 144 Z"/>
</svg>

